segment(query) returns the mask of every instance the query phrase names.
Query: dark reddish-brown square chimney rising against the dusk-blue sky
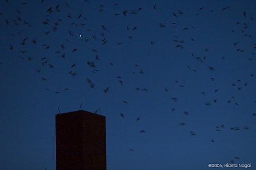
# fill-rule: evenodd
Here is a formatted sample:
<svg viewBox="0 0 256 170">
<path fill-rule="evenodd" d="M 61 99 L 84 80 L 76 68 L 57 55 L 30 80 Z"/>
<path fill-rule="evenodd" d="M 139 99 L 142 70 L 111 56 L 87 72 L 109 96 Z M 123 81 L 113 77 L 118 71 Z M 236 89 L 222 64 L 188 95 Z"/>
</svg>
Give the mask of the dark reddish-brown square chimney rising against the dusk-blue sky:
<svg viewBox="0 0 256 170">
<path fill-rule="evenodd" d="M 105 120 L 85 110 L 55 115 L 57 170 L 106 170 Z"/>
</svg>

